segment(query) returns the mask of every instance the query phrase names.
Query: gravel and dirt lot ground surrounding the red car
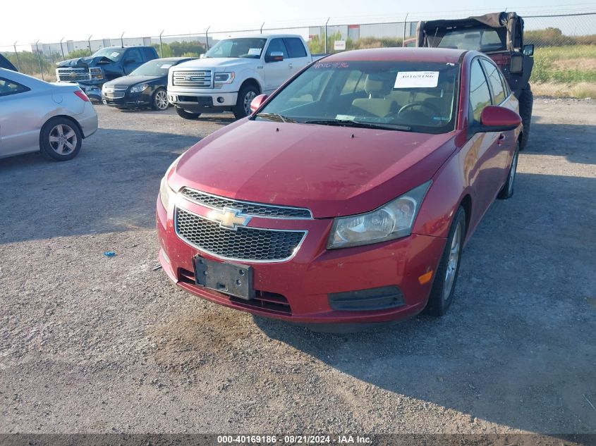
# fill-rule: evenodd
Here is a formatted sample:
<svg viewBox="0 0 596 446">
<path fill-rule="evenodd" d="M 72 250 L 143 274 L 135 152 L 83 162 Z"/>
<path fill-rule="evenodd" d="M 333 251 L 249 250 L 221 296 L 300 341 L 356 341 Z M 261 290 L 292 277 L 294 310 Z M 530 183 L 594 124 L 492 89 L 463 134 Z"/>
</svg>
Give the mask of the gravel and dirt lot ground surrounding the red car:
<svg viewBox="0 0 596 446">
<path fill-rule="evenodd" d="M 77 159 L 0 160 L 0 433 L 596 433 L 596 101 L 537 100 L 447 316 L 351 335 L 153 271 L 160 178 L 230 118 L 97 111 Z"/>
</svg>

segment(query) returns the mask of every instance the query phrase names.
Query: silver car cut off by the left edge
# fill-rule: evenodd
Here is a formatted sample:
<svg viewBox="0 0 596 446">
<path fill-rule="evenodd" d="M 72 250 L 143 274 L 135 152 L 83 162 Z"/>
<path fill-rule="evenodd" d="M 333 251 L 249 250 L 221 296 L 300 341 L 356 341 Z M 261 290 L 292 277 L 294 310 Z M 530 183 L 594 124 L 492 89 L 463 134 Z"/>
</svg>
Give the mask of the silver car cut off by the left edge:
<svg viewBox="0 0 596 446">
<path fill-rule="evenodd" d="M 0 158 L 42 151 L 66 161 L 97 130 L 97 113 L 77 86 L 0 68 Z"/>
</svg>

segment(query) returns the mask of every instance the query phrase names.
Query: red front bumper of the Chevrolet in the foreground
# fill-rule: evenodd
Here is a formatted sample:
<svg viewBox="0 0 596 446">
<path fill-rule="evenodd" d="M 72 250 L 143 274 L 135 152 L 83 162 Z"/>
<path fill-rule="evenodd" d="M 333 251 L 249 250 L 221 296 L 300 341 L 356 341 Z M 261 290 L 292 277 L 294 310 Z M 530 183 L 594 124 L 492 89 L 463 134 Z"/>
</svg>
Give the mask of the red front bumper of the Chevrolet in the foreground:
<svg viewBox="0 0 596 446">
<path fill-rule="evenodd" d="M 204 212 L 199 205 L 186 200 L 178 200 L 178 206 L 191 212 Z M 375 323 L 417 314 L 425 307 L 432 287 L 427 273 L 436 271 L 446 242 L 438 237 L 413 234 L 392 242 L 327 250 L 331 218 L 282 223 L 253 218 L 249 226 L 279 228 L 283 225 L 283 229 L 301 228 L 308 230 L 308 234 L 289 261 L 236 262 L 253 266 L 257 298 L 244 300 L 196 285 L 193 256 L 221 259 L 181 240 L 174 230 L 173 215 L 174 209 L 166 211 L 158 198 L 159 261 L 174 283 L 217 304 L 296 323 Z M 426 280 L 420 279 L 421 276 Z M 332 309 L 330 304 L 329 295 L 382 287 L 398 287 L 401 304 L 356 311 Z"/>
</svg>

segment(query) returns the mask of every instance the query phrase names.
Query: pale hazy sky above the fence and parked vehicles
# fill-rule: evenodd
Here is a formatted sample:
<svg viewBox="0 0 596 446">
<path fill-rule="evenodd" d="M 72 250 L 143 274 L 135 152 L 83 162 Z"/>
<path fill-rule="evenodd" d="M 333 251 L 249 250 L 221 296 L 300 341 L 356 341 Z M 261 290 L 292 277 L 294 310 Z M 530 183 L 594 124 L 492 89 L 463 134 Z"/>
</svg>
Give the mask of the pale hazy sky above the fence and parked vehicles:
<svg viewBox="0 0 596 446">
<path fill-rule="evenodd" d="M 228 0 L 224 2 L 177 0 L 150 1 L 102 0 L 76 1 L 68 7 L 47 0 L 25 0 L 16 20 L 2 20 L 0 47 L 39 42 L 124 37 L 197 34 L 213 30 L 243 30 L 260 27 L 377 23 L 424 18 L 463 18 L 487 12 L 517 11 L 521 15 L 541 13 L 595 12 L 596 1 L 516 0 Z M 157 5 L 157 4 L 156 4 Z M 6 19 L 7 17 L 5 17 Z"/>
</svg>

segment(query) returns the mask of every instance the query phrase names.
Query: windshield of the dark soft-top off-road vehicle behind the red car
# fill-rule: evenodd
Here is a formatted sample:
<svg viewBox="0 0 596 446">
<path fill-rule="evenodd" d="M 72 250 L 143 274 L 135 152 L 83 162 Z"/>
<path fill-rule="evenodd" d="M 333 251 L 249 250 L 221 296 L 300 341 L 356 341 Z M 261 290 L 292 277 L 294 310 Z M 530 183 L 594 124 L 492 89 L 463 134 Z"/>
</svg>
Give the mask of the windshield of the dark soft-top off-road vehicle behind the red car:
<svg viewBox="0 0 596 446">
<path fill-rule="evenodd" d="M 436 36 L 432 32 L 432 28 L 428 32 L 429 47 L 470 49 L 483 53 L 506 49 L 507 30 L 505 28 L 454 28 L 439 30 Z"/>
</svg>

